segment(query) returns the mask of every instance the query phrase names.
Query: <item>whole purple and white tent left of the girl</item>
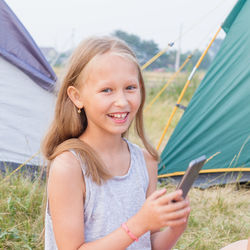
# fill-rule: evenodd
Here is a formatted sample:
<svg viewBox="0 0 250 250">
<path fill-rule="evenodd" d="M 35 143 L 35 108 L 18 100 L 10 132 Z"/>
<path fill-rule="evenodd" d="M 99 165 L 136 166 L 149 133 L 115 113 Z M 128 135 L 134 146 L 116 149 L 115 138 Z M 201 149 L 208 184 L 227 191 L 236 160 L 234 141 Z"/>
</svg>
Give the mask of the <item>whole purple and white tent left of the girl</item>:
<svg viewBox="0 0 250 250">
<path fill-rule="evenodd" d="M 34 40 L 0 0 L 0 167 L 16 167 L 40 149 L 52 119 L 56 75 Z M 28 164 L 38 166 L 39 154 Z"/>
</svg>

